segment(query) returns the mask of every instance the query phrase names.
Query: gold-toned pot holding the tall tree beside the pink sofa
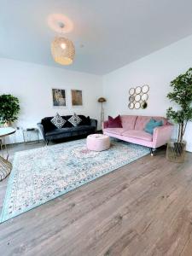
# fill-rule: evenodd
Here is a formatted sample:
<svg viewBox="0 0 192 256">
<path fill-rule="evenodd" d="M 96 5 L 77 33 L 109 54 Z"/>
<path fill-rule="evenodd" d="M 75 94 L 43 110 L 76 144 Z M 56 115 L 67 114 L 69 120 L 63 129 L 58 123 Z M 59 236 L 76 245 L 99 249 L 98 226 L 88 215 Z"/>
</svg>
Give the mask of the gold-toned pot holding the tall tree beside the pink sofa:
<svg viewBox="0 0 192 256">
<path fill-rule="evenodd" d="M 166 159 L 175 163 L 183 163 L 186 153 L 186 142 L 178 143 L 177 140 L 171 140 L 167 143 Z"/>
</svg>

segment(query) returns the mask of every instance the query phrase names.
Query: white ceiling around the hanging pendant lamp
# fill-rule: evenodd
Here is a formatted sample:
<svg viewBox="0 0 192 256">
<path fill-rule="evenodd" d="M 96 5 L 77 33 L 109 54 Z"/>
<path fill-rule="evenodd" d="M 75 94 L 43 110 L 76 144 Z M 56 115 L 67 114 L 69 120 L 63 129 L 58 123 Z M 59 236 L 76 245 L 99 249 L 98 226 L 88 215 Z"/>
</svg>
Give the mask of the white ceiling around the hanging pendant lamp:
<svg viewBox="0 0 192 256">
<path fill-rule="evenodd" d="M 73 20 L 76 56 L 63 68 L 80 72 L 109 73 L 192 34 L 191 0 L 0 0 L 0 57 L 62 67 L 50 54 L 54 13 Z"/>
</svg>

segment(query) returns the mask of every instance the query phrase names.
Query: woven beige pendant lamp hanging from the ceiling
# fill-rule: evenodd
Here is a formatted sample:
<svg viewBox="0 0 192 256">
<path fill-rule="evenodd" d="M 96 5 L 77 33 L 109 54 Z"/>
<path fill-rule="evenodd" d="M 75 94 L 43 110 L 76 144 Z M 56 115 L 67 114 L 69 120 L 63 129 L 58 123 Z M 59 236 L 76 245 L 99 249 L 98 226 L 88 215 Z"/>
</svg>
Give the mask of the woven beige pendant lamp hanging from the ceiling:
<svg viewBox="0 0 192 256">
<path fill-rule="evenodd" d="M 73 42 L 68 38 L 64 38 L 65 24 L 58 21 L 58 28 L 61 29 L 61 36 L 55 37 L 51 43 L 51 54 L 55 62 L 61 65 L 71 65 L 73 63 L 75 48 Z"/>
</svg>

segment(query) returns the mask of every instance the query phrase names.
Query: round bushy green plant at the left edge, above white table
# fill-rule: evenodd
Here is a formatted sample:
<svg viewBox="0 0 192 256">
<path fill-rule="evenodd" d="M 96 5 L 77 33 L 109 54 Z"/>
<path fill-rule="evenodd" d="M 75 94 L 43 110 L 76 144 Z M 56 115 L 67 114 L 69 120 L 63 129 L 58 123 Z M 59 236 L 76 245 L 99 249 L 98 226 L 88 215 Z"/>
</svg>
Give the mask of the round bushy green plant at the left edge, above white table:
<svg viewBox="0 0 192 256">
<path fill-rule="evenodd" d="M 18 119 L 20 112 L 19 99 L 10 94 L 0 96 L 0 119 L 5 127 L 10 126 L 12 122 Z"/>
</svg>

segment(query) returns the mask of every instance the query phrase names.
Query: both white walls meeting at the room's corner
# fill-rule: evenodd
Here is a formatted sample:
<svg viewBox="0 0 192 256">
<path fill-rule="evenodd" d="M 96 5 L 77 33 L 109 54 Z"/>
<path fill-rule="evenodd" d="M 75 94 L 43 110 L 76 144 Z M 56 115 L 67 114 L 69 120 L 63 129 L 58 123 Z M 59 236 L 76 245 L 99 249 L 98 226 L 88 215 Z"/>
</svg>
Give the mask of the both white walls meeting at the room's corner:
<svg viewBox="0 0 192 256">
<path fill-rule="evenodd" d="M 142 44 L 142 43 L 141 43 Z M 119 113 L 162 115 L 172 104 L 166 99 L 171 90 L 170 81 L 192 67 L 192 36 L 121 67 L 100 77 L 88 73 L 71 72 L 62 68 L 47 67 L 22 61 L 0 59 L 0 94 L 10 93 L 20 99 L 20 118 L 16 125 L 26 128 L 36 126 L 45 116 L 82 113 L 100 119 L 99 96 L 106 96 L 106 116 Z M 129 89 L 149 84 L 147 109 L 131 110 L 127 107 Z M 51 88 L 67 89 L 67 108 L 53 108 Z M 71 89 L 83 90 L 83 108 L 72 108 Z M 20 141 L 20 131 L 17 132 Z M 192 151 L 192 123 L 189 123 L 185 139 Z"/>
</svg>

